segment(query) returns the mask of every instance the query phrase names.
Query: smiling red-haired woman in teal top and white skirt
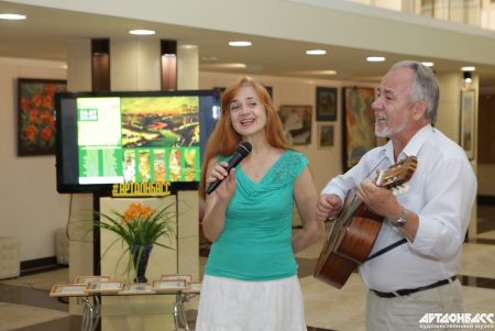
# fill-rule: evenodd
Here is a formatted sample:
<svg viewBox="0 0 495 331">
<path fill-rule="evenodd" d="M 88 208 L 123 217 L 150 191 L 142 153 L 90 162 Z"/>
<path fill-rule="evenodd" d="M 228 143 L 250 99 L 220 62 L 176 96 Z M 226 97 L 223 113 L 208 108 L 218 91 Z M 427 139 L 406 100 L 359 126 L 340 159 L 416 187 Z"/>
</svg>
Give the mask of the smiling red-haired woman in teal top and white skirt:
<svg viewBox="0 0 495 331">
<path fill-rule="evenodd" d="M 201 172 L 202 230 L 212 241 L 197 331 L 306 330 L 295 253 L 318 241 L 318 195 L 308 159 L 289 150 L 266 89 L 242 78 L 222 96 Z M 230 173 L 241 142 L 252 152 Z M 210 195 L 205 188 L 222 180 Z M 302 230 L 293 236 L 296 202 Z"/>
</svg>

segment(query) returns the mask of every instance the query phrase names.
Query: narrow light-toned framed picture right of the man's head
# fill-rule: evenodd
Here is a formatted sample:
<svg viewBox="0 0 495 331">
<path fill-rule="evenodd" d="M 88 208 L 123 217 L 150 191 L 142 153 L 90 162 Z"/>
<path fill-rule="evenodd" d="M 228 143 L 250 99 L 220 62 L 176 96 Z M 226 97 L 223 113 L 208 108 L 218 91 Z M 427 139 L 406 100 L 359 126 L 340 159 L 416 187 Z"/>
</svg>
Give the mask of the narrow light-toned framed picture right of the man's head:
<svg viewBox="0 0 495 331">
<path fill-rule="evenodd" d="M 461 91 L 461 147 L 464 148 L 469 159 L 474 159 L 475 141 L 475 101 L 476 92 L 473 89 Z"/>
</svg>

